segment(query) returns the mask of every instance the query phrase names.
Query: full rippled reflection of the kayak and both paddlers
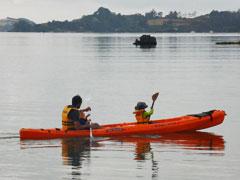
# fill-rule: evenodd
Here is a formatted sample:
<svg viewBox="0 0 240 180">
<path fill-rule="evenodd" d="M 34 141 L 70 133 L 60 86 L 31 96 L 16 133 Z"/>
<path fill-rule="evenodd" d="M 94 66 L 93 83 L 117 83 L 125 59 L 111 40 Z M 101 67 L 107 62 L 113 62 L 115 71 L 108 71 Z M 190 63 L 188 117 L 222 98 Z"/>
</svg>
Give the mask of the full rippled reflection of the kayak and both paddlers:
<svg viewBox="0 0 240 180">
<path fill-rule="evenodd" d="M 120 143 L 120 146 L 119 146 Z M 130 146 L 129 146 L 130 144 Z M 113 138 L 67 138 L 50 141 L 21 141 L 21 148 L 61 148 L 61 158 L 64 166 L 70 168 L 68 176 L 71 179 L 88 177 L 91 169 L 99 168 L 98 162 L 101 161 L 103 168 L 108 168 L 104 164 L 104 159 L 109 158 L 108 154 L 117 153 L 121 157 L 119 161 L 126 161 L 129 164 L 136 164 L 133 169 L 135 173 L 143 172 L 150 168 L 152 179 L 159 179 L 160 168 L 163 165 L 162 158 L 165 152 L 172 153 L 170 156 L 176 157 L 175 153 L 185 155 L 195 154 L 224 155 L 225 141 L 221 135 L 206 132 L 188 132 L 155 136 L 131 136 Z M 91 156 L 91 152 L 101 152 L 101 157 L 96 159 L 96 154 Z M 134 151 L 132 151 L 134 150 Z M 129 159 L 129 154 L 133 155 Z M 116 154 L 115 154 L 116 155 Z M 182 156 L 184 158 L 184 156 Z M 110 156 L 112 158 L 112 156 Z M 115 160 L 115 159 L 108 159 Z M 92 162 L 97 162 L 94 166 Z M 116 162 L 113 162 L 116 165 Z M 120 162 L 120 164 L 123 162 Z M 121 165 L 117 168 L 123 168 Z M 95 169 L 96 170 L 96 169 Z M 144 175 L 140 175 L 141 177 Z"/>
</svg>

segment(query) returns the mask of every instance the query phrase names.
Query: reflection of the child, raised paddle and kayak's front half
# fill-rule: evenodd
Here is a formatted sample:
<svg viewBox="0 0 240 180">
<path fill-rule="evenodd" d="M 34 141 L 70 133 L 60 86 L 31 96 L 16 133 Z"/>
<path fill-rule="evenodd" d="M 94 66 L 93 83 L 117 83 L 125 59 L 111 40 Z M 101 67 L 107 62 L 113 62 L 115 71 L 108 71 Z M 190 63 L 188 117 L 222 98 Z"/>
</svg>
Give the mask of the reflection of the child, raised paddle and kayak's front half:
<svg viewBox="0 0 240 180">
<path fill-rule="evenodd" d="M 159 161 L 154 157 L 154 154 L 158 152 L 151 147 L 154 143 L 157 145 L 175 145 L 174 149 L 180 147 L 186 151 L 192 150 L 196 151 L 197 154 L 204 155 L 223 155 L 225 148 L 225 141 L 222 136 L 206 132 L 175 133 L 159 136 L 116 137 L 113 138 L 113 140 L 123 143 L 134 143 L 134 160 L 140 162 L 137 168 L 144 170 L 142 163 L 144 163 L 145 160 L 151 160 L 152 179 L 158 178 L 159 174 Z M 162 149 L 166 149 L 166 147 Z M 170 149 L 167 148 L 167 151 L 170 151 Z M 204 153 L 201 153 L 203 151 Z"/>
</svg>

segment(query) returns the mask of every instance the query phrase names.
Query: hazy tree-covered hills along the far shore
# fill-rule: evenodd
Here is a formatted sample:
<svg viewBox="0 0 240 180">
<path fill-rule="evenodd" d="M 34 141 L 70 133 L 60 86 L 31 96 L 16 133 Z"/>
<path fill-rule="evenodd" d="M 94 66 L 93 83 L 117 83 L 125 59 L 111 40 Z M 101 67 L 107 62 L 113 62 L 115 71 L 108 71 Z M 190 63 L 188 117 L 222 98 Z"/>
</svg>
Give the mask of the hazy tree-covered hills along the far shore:
<svg viewBox="0 0 240 180">
<path fill-rule="evenodd" d="M 180 12 L 151 10 L 142 14 L 122 15 L 100 7 L 91 15 L 72 21 L 50 21 L 36 24 L 26 18 L 0 20 L 0 32 L 240 32 L 240 9 L 216 11 L 194 17 L 183 17 Z"/>
</svg>

